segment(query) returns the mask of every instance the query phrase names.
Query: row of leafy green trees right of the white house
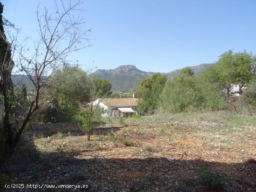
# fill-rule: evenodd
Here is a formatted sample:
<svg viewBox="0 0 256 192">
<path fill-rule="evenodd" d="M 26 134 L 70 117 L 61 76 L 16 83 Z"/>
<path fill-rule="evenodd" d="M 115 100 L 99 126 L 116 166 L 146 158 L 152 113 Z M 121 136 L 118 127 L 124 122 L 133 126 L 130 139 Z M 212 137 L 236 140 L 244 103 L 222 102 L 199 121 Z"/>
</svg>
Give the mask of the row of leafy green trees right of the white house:
<svg viewBox="0 0 256 192">
<path fill-rule="evenodd" d="M 229 50 L 219 57 L 216 65 L 196 77 L 189 67 L 183 68 L 172 80 L 157 73 L 143 79 L 137 92 L 141 114 L 159 109 L 170 113 L 223 109 L 253 112 L 256 109 L 256 56 Z"/>
</svg>

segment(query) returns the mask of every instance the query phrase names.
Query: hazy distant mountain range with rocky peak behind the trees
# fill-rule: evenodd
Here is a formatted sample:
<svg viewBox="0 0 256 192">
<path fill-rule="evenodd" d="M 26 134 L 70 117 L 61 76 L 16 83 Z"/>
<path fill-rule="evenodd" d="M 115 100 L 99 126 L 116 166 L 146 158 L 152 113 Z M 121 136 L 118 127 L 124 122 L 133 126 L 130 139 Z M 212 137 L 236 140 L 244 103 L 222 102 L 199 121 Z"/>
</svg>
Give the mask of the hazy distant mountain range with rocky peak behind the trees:
<svg viewBox="0 0 256 192">
<path fill-rule="evenodd" d="M 205 67 L 213 65 L 215 64 L 206 63 L 197 66 L 190 66 L 190 68 L 192 69 L 192 71 L 194 71 L 194 74 L 196 76 L 202 73 Z M 181 70 L 182 69 L 176 69 L 174 71 L 162 74 L 165 74 L 168 79 L 173 79 L 177 74 L 180 73 Z M 144 79 L 145 77 L 149 77 L 155 73 L 141 71 L 134 65 L 121 65 L 116 67 L 115 69 L 98 69 L 96 72 L 94 72 L 94 74 L 98 78 L 107 79 L 112 84 L 111 90 L 113 92 L 118 92 L 135 90 L 136 87 L 140 85 L 142 79 Z"/>
</svg>

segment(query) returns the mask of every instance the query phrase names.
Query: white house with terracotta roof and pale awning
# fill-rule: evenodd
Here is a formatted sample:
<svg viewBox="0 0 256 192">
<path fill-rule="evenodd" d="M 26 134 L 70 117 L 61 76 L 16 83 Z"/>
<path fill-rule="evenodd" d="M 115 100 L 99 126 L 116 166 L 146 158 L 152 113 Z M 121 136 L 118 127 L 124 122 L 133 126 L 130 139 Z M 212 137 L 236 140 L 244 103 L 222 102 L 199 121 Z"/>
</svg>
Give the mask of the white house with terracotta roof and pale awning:
<svg viewBox="0 0 256 192">
<path fill-rule="evenodd" d="M 105 113 L 101 114 L 102 117 L 119 118 L 136 114 L 137 101 L 137 98 L 99 98 L 94 101 L 93 105 L 104 108 Z"/>
</svg>

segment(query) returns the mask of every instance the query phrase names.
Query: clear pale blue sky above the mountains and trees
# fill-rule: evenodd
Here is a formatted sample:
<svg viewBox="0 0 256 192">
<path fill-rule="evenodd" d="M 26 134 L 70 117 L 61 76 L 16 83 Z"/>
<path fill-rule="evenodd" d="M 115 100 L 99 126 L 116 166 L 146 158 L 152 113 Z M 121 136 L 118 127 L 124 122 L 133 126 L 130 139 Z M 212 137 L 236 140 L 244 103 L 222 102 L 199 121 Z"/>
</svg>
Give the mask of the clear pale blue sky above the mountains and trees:
<svg viewBox="0 0 256 192">
<path fill-rule="evenodd" d="M 21 36 L 37 40 L 40 1 L 0 1 Z M 52 10 L 54 1 L 41 0 L 40 7 Z M 79 8 L 84 29 L 92 29 L 91 46 L 70 58 L 83 67 L 170 72 L 216 62 L 229 49 L 256 53 L 256 0 L 84 0 Z"/>
</svg>

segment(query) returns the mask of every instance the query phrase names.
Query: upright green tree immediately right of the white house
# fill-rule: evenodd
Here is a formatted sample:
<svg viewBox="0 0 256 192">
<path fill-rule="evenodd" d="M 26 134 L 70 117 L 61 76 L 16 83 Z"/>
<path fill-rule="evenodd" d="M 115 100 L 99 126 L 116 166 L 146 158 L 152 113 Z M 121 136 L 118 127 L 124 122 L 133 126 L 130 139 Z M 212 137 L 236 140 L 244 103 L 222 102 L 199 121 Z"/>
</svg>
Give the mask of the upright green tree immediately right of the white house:
<svg viewBox="0 0 256 192">
<path fill-rule="evenodd" d="M 138 101 L 139 113 L 153 113 L 159 106 L 159 96 L 166 81 L 166 75 L 161 75 L 161 73 L 155 73 L 141 81 L 137 89 L 138 97 L 140 98 Z"/>
</svg>

